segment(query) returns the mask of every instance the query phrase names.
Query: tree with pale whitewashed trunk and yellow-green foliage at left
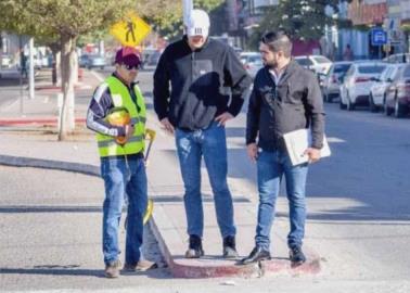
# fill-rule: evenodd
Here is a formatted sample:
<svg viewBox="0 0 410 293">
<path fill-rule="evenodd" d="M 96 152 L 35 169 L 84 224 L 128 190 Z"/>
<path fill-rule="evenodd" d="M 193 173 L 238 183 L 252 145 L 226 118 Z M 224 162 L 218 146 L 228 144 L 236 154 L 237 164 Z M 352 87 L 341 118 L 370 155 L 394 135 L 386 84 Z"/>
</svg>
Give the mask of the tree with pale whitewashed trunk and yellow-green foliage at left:
<svg viewBox="0 0 410 293">
<path fill-rule="evenodd" d="M 2 0 L 2 29 L 33 37 L 56 38 L 61 44 L 62 91 L 64 94 L 59 140 L 74 130 L 74 71 L 77 38 L 110 27 L 134 0 Z"/>
</svg>

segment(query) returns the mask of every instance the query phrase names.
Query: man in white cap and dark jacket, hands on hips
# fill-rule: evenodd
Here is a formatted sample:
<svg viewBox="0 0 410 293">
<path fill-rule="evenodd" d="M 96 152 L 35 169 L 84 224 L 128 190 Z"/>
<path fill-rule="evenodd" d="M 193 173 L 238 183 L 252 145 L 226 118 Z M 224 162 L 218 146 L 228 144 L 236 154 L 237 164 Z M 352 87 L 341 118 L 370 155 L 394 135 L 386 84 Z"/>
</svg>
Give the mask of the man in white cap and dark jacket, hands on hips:
<svg viewBox="0 0 410 293">
<path fill-rule="evenodd" d="M 252 81 L 234 51 L 208 38 L 206 12 L 193 10 L 185 25 L 187 36 L 166 48 L 154 74 L 155 112 L 164 128 L 175 132 L 185 188 L 190 235 L 185 257 L 204 255 L 202 156 L 214 191 L 223 257 L 236 257 L 233 204 L 227 184 L 225 124 L 240 113 Z"/>
</svg>

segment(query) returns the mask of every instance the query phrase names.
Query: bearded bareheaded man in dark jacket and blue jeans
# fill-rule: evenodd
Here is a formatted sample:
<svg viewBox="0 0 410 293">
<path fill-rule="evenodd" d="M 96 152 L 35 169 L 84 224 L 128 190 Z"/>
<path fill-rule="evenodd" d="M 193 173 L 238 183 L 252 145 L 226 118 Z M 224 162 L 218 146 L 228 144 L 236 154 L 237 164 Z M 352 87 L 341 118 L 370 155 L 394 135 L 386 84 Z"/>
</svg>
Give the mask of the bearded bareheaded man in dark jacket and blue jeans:
<svg viewBox="0 0 410 293">
<path fill-rule="evenodd" d="M 315 74 L 291 59 L 292 42 L 283 31 L 267 33 L 259 50 L 265 67 L 255 77 L 246 125 L 247 154 L 257 163 L 258 224 L 255 249 L 242 259 L 242 264 L 270 259 L 269 234 L 274 203 L 284 175 L 290 201 L 290 258 L 294 265 L 299 265 L 306 260 L 302 241 L 305 233 L 308 164 L 292 165 L 283 135 L 310 128 L 312 143 L 305 153 L 310 163 L 317 162 L 323 141 L 322 98 Z"/>
</svg>

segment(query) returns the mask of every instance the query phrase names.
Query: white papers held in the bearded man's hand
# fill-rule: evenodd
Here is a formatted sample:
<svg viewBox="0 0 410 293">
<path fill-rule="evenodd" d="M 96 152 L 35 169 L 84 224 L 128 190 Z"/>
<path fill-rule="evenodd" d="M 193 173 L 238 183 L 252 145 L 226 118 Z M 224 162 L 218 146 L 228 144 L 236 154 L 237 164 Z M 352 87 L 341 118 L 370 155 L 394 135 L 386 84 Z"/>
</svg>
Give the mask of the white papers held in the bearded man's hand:
<svg viewBox="0 0 410 293">
<path fill-rule="evenodd" d="M 283 139 L 287 149 L 289 156 L 293 166 L 306 163 L 309 161 L 305 151 L 311 145 L 310 129 L 298 129 L 283 135 Z M 326 137 L 323 135 L 323 148 L 320 150 L 320 156 L 330 156 L 331 150 Z"/>
</svg>

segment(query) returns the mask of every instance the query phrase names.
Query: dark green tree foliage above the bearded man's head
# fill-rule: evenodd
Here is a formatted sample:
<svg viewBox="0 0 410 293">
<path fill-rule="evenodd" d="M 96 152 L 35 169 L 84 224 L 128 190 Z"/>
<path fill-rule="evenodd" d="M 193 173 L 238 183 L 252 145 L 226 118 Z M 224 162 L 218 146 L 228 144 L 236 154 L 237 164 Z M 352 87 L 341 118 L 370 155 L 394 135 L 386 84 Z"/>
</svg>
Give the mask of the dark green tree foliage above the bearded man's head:
<svg viewBox="0 0 410 293">
<path fill-rule="evenodd" d="M 292 38 L 317 40 L 323 35 L 325 25 L 336 24 L 325 13 L 328 7 L 338 11 L 338 0 L 280 0 L 278 5 L 262 8 L 262 21 L 256 34 L 272 28 L 284 29 Z"/>
</svg>

